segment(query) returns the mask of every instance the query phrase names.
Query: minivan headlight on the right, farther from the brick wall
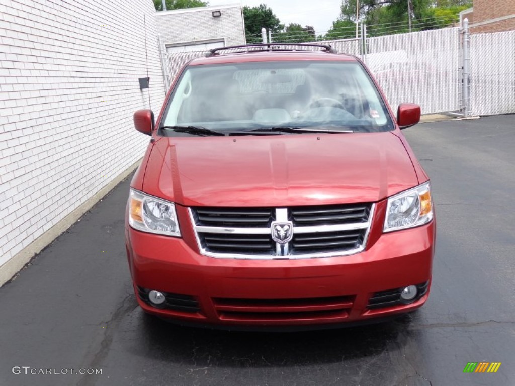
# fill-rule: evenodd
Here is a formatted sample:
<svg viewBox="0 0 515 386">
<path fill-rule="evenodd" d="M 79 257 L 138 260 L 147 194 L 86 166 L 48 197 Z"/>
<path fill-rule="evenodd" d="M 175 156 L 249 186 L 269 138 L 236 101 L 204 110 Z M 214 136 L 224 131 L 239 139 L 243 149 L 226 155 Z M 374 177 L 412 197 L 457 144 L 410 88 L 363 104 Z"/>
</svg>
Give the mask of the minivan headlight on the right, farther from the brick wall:
<svg viewBox="0 0 515 386">
<path fill-rule="evenodd" d="M 388 198 L 383 232 L 423 225 L 432 219 L 431 189 L 426 182 Z"/>
</svg>

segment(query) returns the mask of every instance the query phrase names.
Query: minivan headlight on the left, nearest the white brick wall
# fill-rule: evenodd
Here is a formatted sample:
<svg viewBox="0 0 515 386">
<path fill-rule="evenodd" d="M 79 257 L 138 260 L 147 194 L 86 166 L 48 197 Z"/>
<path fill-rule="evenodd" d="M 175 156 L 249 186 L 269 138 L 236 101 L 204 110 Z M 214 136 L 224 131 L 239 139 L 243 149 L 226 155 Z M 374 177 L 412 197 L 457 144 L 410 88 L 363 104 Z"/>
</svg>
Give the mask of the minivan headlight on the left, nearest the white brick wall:
<svg viewBox="0 0 515 386">
<path fill-rule="evenodd" d="M 130 189 L 129 224 L 143 232 L 181 236 L 173 202 L 132 189 Z"/>
</svg>

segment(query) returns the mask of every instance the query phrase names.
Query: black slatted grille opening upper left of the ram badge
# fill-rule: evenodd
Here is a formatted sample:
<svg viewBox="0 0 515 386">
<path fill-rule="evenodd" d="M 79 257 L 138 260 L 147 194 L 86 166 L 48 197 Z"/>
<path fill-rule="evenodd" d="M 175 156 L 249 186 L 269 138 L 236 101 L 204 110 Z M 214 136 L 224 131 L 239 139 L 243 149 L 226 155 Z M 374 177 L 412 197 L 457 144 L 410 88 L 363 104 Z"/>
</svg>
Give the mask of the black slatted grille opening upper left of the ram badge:
<svg viewBox="0 0 515 386">
<path fill-rule="evenodd" d="M 274 220 L 273 208 L 222 208 L 198 207 L 195 210 L 197 225 L 204 226 L 270 226 Z"/>
</svg>

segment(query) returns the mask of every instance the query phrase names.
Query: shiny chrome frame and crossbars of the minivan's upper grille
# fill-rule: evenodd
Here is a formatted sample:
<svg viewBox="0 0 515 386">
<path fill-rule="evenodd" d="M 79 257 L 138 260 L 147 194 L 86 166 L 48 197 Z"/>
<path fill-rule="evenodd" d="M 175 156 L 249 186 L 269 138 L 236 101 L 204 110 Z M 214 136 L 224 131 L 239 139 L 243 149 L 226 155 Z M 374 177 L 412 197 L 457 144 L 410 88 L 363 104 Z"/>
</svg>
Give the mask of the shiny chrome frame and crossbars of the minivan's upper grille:
<svg viewBox="0 0 515 386">
<path fill-rule="evenodd" d="M 205 225 L 197 225 L 197 221 L 195 220 L 196 216 L 194 214 L 194 208 L 188 208 L 188 213 L 190 214 L 190 220 L 192 222 L 192 226 L 195 233 L 195 238 L 197 240 L 197 245 L 200 251 L 200 254 L 204 256 L 214 257 L 214 258 L 222 258 L 222 259 L 247 259 L 247 260 L 284 260 L 284 259 L 311 259 L 311 258 L 322 258 L 322 257 L 336 257 L 336 256 L 349 256 L 365 250 L 367 245 L 368 236 L 370 232 L 370 227 L 372 224 L 372 219 L 374 216 L 375 204 L 367 204 L 370 205 L 370 210 L 367 213 L 367 221 L 355 222 L 355 223 L 344 223 L 344 224 L 329 224 L 329 225 L 310 225 L 310 226 L 296 226 L 294 223 L 294 235 L 299 234 L 323 234 L 328 232 L 338 232 L 338 231 L 364 231 L 363 241 L 357 248 L 343 250 L 343 251 L 331 251 L 331 252 L 319 252 L 319 253 L 302 253 L 295 254 L 291 251 L 291 242 L 286 244 L 284 249 L 279 247 L 274 247 L 270 249 L 269 254 L 239 254 L 239 253 L 217 253 L 210 252 L 206 250 L 202 246 L 201 237 L 199 233 L 202 234 L 235 234 L 235 235 L 271 235 L 270 227 L 230 227 L 230 226 L 205 226 Z M 287 217 L 287 214 L 290 214 L 290 208 L 276 208 L 276 217 Z M 278 215 L 279 214 L 279 215 Z M 275 244 L 275 243 L 274 243 Z M 283 244 L 284 245 L 284 244 Z M 286 253 L 285 253 L 286 251 Z M 288 252 L 289 251 L 289 252 Z M 280 253 L 285 253 L 285 255 L 279 255 Z"/>
</svg>

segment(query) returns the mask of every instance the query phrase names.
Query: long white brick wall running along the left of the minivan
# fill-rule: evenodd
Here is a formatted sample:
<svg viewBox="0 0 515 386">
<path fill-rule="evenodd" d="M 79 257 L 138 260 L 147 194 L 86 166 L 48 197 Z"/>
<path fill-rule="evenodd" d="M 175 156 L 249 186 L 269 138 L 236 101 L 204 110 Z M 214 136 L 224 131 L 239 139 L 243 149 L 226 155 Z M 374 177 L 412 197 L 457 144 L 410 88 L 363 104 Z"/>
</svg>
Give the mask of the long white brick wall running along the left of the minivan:
<svg viewBox="0 0 515 386">
<path fill-rule="evenodd" d="M 146 42 L 144 15 L 146 15 Z M 0 0 L 0 266 L 143 156 L 164 99 L 151 0 Z"/>
</svg>

